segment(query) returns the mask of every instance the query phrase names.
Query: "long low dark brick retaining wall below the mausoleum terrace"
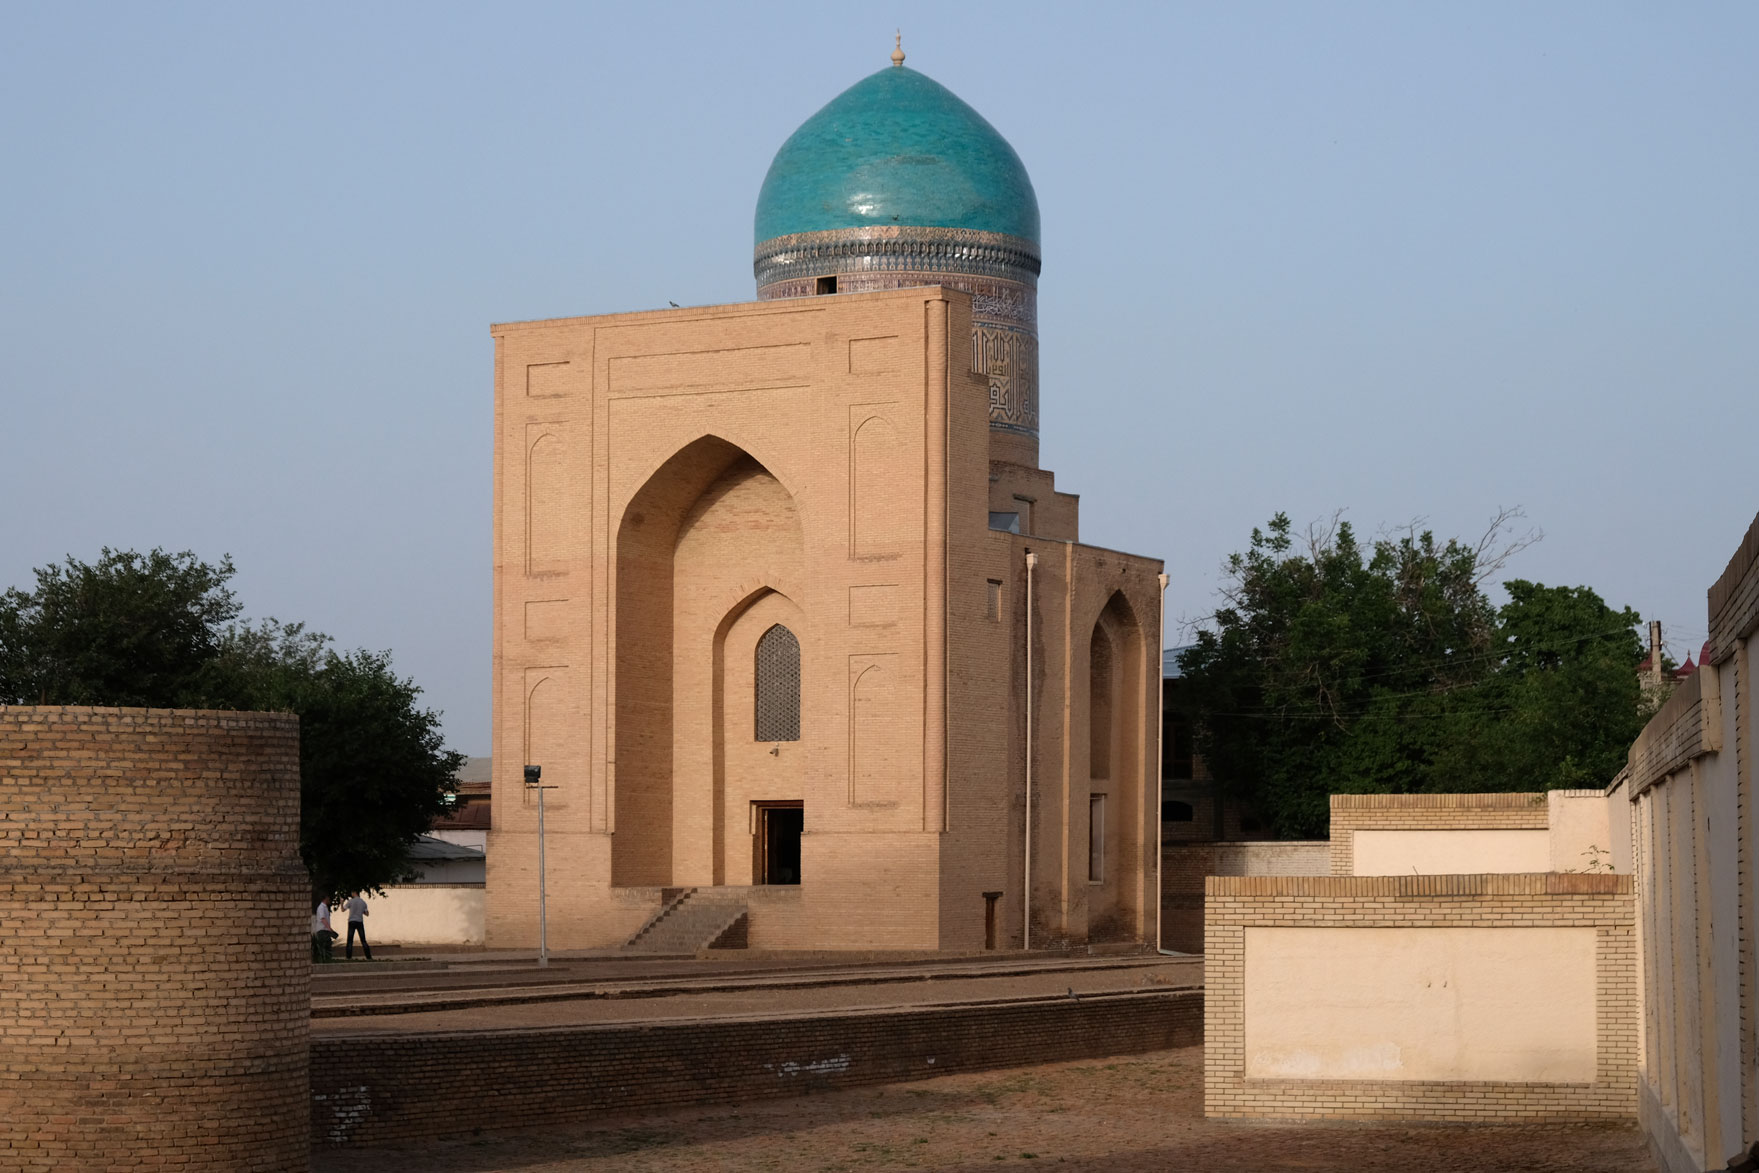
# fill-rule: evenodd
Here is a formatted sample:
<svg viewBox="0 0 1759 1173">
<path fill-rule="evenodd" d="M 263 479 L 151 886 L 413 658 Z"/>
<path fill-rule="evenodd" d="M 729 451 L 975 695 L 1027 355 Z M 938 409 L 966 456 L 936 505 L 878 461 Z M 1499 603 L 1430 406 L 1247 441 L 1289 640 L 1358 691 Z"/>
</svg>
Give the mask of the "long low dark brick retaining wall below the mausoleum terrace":
<svg viewBox="0 0 1759 1173">
<path fill-rule="evenodd" d="M 311 1143 L 575 1122 L 1203 1041 L 1201 990 L 311 1041 Z"/>
</svg>

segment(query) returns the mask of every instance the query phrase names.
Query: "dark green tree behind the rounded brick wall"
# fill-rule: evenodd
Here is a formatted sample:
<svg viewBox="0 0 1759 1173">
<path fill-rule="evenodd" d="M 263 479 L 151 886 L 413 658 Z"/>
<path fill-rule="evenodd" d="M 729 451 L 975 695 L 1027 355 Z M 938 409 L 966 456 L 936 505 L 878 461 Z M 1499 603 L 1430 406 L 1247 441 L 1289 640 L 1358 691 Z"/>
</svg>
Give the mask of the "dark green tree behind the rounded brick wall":
<svg viewBox="0 0 1759 1173">
<path fill-rule="evenodd" d="M 317 893 L 408 879 L 464 754 L 389 652 L 239 623 L 232 561 L 102 550 L 0 594 L 0 702 L 299 714 L 299 853 Z"/>
</svg>

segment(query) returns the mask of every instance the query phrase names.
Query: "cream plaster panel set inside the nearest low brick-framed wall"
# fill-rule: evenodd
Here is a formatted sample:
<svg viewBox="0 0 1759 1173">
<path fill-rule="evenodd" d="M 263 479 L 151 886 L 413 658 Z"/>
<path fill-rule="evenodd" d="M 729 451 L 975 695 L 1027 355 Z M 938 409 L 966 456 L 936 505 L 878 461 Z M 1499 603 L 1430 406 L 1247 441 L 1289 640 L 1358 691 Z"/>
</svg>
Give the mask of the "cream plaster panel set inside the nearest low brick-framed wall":
<svg viewBox="0 0 1759 1173">
<path fill-rule="evenodd" d="M 1245 1076 L 1592 1083 L 1594 932 L 1249 927 Z"/>
</svg>

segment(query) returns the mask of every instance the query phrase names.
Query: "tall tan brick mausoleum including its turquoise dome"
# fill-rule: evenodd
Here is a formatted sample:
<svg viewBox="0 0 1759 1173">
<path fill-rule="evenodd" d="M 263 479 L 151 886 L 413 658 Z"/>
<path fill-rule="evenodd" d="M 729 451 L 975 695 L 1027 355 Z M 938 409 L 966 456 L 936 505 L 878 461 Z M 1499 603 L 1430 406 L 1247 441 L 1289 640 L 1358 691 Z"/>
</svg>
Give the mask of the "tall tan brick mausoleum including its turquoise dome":
<svg viewBox="0 0 1759 1173">
<path fill-rule="evenodd" d="M 494 327 L 491 946 L 526 763 L 552 948 L 691 888 L 760 948 L 1152 939 L 1161 566 L 1038 468 L 1025 169 L 895 62 L 777 153 L 758 301 Z"/>
</svg>

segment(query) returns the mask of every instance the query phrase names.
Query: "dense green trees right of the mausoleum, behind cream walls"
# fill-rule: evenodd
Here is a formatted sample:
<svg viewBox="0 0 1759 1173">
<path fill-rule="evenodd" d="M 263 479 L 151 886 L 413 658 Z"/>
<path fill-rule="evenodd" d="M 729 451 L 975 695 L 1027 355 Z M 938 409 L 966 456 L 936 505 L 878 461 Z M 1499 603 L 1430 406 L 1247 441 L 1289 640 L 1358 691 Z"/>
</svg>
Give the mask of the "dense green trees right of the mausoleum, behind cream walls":
<svg viewBox="0 0 1759 1173">
<path fill-rule="evenodd" d="M 1643 726 L 1636 612 L 1588 587 L 1485 582 L 1534 536 L 1409 529 L 1363 545 L 1288 515 L 1228 561 L 1182 658 L 1179 707 L 1210 769 L 1279 835 L 1323 837 L 1333 793 L 1602 786 Z"/>
</svg>

